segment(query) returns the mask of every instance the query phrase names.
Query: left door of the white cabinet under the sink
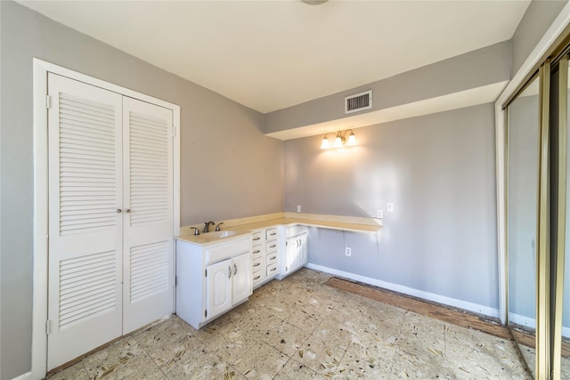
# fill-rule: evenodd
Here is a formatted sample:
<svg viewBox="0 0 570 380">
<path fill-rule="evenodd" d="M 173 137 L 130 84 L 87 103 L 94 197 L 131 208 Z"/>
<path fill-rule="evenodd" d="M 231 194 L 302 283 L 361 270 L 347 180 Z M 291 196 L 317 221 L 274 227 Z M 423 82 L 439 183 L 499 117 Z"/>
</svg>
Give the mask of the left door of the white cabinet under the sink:
<svg viewBox="0 0 570 380">
<path fill-rule="evenodd" d="M 232 307 L 232 259 L 208 265 L 207 271 L 206 319 L 210 319 Z"/>
</svg>

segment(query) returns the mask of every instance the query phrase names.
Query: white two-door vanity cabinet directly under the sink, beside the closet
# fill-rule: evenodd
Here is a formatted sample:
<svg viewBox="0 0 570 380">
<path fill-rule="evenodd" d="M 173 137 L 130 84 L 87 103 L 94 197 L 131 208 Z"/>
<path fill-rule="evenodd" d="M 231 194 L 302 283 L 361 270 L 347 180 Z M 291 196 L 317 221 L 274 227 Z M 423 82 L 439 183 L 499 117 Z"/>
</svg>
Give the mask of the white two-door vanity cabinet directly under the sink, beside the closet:
<svg viewBox="0 0 570 380">
<path fill-rule="evenodd" d="M 199 245 L 176 240 L 176 314 L 199 328 L 251 295 L 251 235 Z"/>
</svg>

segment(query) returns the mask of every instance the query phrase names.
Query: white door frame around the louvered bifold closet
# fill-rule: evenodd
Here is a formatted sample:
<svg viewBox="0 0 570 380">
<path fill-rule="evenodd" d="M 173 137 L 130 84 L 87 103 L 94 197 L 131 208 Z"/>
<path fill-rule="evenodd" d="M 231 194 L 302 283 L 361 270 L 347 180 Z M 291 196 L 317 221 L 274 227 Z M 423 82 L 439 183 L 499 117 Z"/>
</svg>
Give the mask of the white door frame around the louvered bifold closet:
<svg viewBox="0 0 570 380">
<path fill-rule="evenodd" d="M 180 235 L 180 106 L 138 93 L 120 85 L 89 77 L 53 63 L 33 59 L 33 162 L 34 162 L 34 220 L 33 220 L 33 301 L 32 301 L 32 370 L 33 379 L 42 379 L 47 372 L 47 269 L 48 269 L 48 133 L 47 133 L 47 73 L 69 77 L 88 85 L 102 87 L 141 101 L 173 111 L 174 154 L 174 236 Z M 174 238 L 173 236 L 173 238 Z M 174 252 L 173 252 L 174 255 Z M 174 256 L 173 256 L 174 260 Z M 174 265 L 175 267 L 175 265 Z M 173 277 L 175 273 L 172 274 Z M 173 294 L 175 297 L 175 294 Z M 174 298 L 175 301 L 175 298 Z M 175 303 L 174 303 L 175 304 Z M 174 312 L 174 310 L 173 310 Z"/>
</svg>

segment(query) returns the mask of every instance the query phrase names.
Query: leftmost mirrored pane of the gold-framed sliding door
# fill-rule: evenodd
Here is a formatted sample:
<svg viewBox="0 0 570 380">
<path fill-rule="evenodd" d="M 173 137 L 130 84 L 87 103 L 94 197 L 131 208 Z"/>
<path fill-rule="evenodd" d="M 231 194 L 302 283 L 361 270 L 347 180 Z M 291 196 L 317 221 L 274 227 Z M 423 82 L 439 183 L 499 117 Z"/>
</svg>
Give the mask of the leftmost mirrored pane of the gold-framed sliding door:
<svg viewBox="0 0 570 380">
<path fill-rule="evenodd" d="M 534 369 L 539 190 L 540 77 L 535 76 L 507 112 L 507 235 L 509 327 Z"/>
</svg>

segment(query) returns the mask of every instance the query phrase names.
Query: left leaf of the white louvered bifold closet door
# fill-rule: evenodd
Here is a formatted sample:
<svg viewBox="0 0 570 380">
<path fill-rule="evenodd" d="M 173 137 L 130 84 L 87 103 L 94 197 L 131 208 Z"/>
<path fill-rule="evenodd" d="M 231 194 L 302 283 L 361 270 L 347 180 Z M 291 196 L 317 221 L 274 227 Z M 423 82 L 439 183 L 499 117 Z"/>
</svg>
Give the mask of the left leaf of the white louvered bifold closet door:
<svg viewBox="0 0 570 380">
<path fill-rule="evenodd" d="M 122 334 L 122 96 L 48 85 L 51 369 Z"/>
</svg>

